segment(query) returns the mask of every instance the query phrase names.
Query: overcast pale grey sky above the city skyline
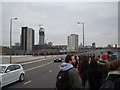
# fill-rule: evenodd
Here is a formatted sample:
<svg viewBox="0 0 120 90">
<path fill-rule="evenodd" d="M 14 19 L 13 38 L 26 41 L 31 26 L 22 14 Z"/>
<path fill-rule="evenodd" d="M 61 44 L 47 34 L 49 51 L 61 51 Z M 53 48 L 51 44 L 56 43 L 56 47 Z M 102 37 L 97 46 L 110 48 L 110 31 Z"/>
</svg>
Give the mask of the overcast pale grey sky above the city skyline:
<svg viewBox="0 0 120 90">
<path fill-rule="evenodd" d="M 85 45 L 118 44 L 118 2 L 2 2 L 2 46 L 9 46 L 10 19 L 15 17 L 13 45 L 20 43 L 24 26 L 35 30 L 38 44 L 40 24 L 45 29 L 45 42 L 67 45 L 67 37 L 78 34 L 80 44 L 82 24 L 77 22 L 84 22 Z"/>
</svg>

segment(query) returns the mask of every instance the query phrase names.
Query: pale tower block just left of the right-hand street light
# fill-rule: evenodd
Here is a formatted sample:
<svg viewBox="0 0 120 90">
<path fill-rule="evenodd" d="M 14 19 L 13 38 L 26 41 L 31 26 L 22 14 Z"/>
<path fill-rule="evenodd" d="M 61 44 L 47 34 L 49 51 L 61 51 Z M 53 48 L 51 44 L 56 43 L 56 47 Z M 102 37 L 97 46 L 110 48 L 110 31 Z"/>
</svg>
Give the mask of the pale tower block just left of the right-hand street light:
<svg viewBox="0 0 120 90">
<path fill-rule="evenodd" d="M 75 52 L 77 48 L 78 48 L 78 35 L 71 34 L 70 36 L 68 36 L 67 51 Z"/>
</svg>

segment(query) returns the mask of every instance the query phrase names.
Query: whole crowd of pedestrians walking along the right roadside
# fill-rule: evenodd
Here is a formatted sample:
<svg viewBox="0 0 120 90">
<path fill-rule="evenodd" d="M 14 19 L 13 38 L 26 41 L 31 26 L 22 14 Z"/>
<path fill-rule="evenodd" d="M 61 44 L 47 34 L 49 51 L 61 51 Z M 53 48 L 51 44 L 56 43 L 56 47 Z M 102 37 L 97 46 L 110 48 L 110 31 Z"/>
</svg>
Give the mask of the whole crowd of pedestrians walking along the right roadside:
<svg viewBox="0 0 120 90">
<path fill-rule="evenodd" d="M 108 51 L 101 55 L 67 55 L 57 75 L 57 90 L 120 88 L 120 60 Z"/>
</svg>

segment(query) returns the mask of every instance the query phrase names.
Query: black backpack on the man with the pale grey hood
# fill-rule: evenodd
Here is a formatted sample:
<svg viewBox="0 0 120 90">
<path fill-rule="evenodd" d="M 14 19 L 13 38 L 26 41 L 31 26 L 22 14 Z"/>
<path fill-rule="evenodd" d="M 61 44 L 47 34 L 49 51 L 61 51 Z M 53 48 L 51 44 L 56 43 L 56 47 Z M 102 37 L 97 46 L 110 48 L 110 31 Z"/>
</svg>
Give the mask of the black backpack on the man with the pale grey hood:
<svg viewBox="0 0 120 90">
<path fill-rule="evenodd" d="M 67 71 L 59 71 L 56 81 L 57 90 L 69 90 L 69 74 Z"/>
</svg>

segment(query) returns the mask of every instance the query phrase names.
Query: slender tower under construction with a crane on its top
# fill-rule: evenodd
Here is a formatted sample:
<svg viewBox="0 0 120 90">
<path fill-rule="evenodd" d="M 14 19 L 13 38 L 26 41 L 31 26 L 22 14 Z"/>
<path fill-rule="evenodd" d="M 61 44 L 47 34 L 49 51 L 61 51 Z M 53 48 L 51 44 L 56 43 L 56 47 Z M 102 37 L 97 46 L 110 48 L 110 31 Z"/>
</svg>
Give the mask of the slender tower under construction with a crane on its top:
<svg viewBox="0 0 120 90">
<path fill-rule="evenodd" d="M 40 26 L 39 29 L 39 45 L 44 45 L 45 44 L 45 32 L 44 28 Z"/>
</svg>

